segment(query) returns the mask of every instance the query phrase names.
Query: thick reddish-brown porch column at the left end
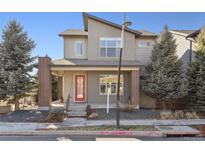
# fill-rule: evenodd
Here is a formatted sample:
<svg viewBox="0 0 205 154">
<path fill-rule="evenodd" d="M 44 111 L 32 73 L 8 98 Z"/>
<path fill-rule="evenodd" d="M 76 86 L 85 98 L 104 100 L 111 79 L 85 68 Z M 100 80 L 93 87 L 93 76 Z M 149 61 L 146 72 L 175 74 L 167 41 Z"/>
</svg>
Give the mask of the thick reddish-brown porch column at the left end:
<svg viewBox="0 0 205 154">
<path fill-rule="evenodd" d="M 51 64 L 49 57 L 38 58 L 38 106 L 39 110 L 48 110 L 51 104 L 51 71 L 49 65 Z"/>
</svg>

